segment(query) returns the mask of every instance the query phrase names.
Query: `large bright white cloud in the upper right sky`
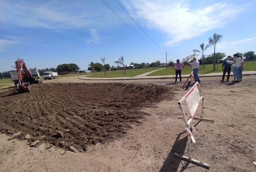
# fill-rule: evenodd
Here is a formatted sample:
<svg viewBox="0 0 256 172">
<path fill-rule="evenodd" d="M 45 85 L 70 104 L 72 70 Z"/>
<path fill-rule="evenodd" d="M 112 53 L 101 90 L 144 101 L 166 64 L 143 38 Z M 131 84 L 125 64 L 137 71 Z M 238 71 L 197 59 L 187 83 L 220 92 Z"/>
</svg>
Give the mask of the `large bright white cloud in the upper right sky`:
<svg viewBox="0 0 256 172">
<path fill-rule="evenodd" d="M 198 8 L 195 1 L 189 0 L 134 0 L 132 4 L 139 17 L 146 19 L 151 28 L 167 33 L 170 41 L 167 41 L 166 45 L 223 27 L 226 21 L 245 10 L 243 7 L 238 9 L 223 2 Z"/>
</svg>

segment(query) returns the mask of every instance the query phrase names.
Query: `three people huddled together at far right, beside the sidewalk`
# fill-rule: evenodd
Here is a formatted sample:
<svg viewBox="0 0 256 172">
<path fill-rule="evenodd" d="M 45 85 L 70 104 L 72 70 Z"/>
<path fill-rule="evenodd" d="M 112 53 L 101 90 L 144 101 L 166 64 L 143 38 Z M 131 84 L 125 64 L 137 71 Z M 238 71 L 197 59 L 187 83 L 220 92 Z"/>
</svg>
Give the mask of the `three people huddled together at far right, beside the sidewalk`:
<svg viewBox="0 0 256 172">
<path fill-rule="evenodd" d="M 227 76 L 227 82 L 228 82 L 229 76 L 231 73 L 231 65 L 233 66 L 232 70 L 234 75 L 234 80 L 232 82 L 242 81 L 243 69 L 244 69 L 243 57 L 239 56 L 238 53 L 234 54 L 233 57 L 234 57 L 234 61 L 230 60 L 231 56 L 228 56 L 227 59 L 223 61 L 223 64 L 222 64 L 223 75 L 222 75 L 221 81 L 224 81 L 225 75 L 228 72 L 228 76 Z"/>
</svg>

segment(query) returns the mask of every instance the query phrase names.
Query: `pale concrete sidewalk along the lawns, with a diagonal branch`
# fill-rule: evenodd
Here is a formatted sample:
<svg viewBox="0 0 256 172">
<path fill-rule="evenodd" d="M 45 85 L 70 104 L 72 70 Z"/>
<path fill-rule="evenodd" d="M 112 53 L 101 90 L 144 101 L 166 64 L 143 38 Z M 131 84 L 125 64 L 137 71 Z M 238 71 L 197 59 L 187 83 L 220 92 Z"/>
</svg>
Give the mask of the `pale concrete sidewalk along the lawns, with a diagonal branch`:
<svg viewBox="0 0 256 172">
<path fill-rule="evenodd" d="M 147 72 L 144 74 L 140 74 L 134 77 L 116 77 L 116 78 L 90 78 L 86 76 L 78 77 L 78 79 L 84 79 L 84 80 L 135 80 L 135 79 L 171 79 L 175 78 L 175 75 L 164 75 L 164 76 L 147 76 L 148 74 L 151 74 L 153 72 L 159 71 L 162 69 L 158 69 L 155 71 Z M 181 75 L 182 78 L 188 78 L 190 74 Z M 245 71 L 243 72 L 243 76 L 248 75 L 256 75 L 256 71 Z M 198 74 L 199 77 L 222 77 L 222 73 L 207 73 L 207 74 Z M 230 76 L 233 76 L 233 73 L 231 72 Z M 227 74 L 225 78 L 227 77 Z M 178 76 L 179 78 L 179 76 Z M 221 78 L 220 78 L 221 79 Z"/>
</svg>

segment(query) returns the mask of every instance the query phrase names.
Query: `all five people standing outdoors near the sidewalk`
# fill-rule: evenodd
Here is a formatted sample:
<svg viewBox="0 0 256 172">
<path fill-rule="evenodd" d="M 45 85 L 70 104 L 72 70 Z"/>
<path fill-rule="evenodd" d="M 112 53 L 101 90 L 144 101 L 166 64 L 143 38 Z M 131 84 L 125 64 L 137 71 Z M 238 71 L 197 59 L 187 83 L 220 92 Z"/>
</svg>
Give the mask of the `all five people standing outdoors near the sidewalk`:
<svg viewBox="0 0 256 172">
<path fill-rule="evenodd" d="M 231 61 L 231 56 L 228 56 L 226 60 L 223 61 L 222 64 L 222 71 L 223 71 L 223 75 L 222 75 L 222 79 L 221 82 L 224 81 L 225 75 L 226 73 L 228 73 L 227 76 L 227 82 L 229 80 L 229 76 L 231 73 L 231 65 L 233 66 L 233 75 L 234 75 L 234 80 L 232 82 L 240 82 L 242 81 L 242 77 L 243 77 L 243 69 L 244 69 L 244 60 L 242 56 L 239 56 L 238 53 L 233 55 L 234 57 L 234 61 Z M 192 66 L 192 70 L 193 70 L 193 76 L 195 78 L 196 82 L 201 82 L 199 77 L 198 77 L 198 72 L 199 72 L 199 61 L 196 59 L 196 57 L 192 58 L 193 62 L 189 63 L 188 61 L 185 61 L 188 65 Z M 176 60 L 177 63 L 174 64 L 173 68 L 175 70 L 175 83 L 177 82 L 177 78 L 178 78 L 178 74 L 180 77 L 180 82 L 182 83 L 181 80 L 181 71 L 184 68 L 184 65 L 182 63 L 180 63 L 180 60 L 177 59 Z"/>
</svg>

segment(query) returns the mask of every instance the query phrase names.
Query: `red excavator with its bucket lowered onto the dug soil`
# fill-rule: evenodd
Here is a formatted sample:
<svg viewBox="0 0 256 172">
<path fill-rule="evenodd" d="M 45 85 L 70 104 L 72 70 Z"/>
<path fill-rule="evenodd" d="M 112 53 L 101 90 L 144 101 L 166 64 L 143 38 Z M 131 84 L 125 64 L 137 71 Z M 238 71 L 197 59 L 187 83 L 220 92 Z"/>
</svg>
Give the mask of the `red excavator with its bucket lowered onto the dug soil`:
<svg viewBox="0 0 256 172">
<path fill-rule="evenodd" d="M 13 66 L 14 67 L 14 66 Z M 40 78 L 37 68 L 27 68 L 23 59 L 19 59 L 15 62 L 16 72 L 11 75 L 17 76 L 14 80 L 17 86 L 18 93 L 30 92 L 29 84 L 41 84 L 43 81 Z M 21 68 L 23 71 L 21 71 Z M 12 77 L 11 78 L 15 78 Z"/>
</svg>

